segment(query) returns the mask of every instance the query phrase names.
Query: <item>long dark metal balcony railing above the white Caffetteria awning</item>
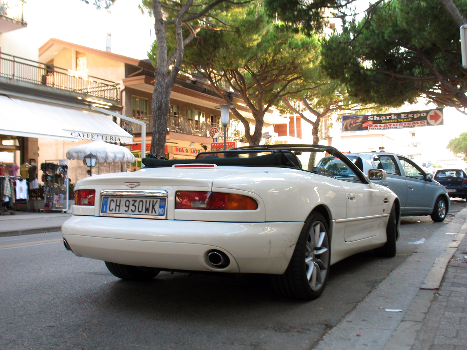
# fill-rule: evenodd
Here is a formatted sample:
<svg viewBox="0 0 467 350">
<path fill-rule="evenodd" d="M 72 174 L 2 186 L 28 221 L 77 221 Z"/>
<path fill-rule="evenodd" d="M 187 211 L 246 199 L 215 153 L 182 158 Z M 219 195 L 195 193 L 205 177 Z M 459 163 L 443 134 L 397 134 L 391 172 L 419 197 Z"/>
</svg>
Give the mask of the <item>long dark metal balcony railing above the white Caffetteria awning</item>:
<svg viewBox="0 0 467 350">
<path fill-rule="evenodd" d="M 90 97 L 106 98 L 120 104 L 120 86 L 115 82 L 2 52 L 0 77 L 73 91 Z"/>
</svg>

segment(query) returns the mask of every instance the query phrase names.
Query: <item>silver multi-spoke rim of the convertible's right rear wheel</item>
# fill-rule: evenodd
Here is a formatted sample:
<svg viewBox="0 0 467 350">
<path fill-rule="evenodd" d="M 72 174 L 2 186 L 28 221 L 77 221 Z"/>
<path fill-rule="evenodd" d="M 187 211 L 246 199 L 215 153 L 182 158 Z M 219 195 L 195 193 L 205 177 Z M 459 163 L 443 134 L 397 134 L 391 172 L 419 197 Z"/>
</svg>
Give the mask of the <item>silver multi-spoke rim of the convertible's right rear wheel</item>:
<svg viewBox="0 0 467 350">
<path fill-rule="evenodd" d="M 305 252 L 306 278 L 312 290 L 317 291 L 326 279 L 329 265 L 329 239 L 325 225 L 316 221 L 308 232 Z"/>
</svg>

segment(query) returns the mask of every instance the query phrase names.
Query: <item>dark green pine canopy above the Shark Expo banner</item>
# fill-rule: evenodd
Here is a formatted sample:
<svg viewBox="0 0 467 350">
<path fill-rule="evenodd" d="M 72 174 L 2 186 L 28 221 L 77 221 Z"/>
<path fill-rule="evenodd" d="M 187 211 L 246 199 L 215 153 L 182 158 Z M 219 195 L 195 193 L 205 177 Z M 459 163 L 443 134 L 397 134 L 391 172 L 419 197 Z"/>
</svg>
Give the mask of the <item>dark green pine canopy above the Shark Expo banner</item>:
<svg viewBox="0 0 467 350">
<path fill-rule="evenodd" d="M 455 1 L 461 13 L 467 2 Z M 323 42 L 323 68 L 363 103 L 418 97 L 466 112 L 459 28 L 438 0 L 389 0 Z"/>
</svg>

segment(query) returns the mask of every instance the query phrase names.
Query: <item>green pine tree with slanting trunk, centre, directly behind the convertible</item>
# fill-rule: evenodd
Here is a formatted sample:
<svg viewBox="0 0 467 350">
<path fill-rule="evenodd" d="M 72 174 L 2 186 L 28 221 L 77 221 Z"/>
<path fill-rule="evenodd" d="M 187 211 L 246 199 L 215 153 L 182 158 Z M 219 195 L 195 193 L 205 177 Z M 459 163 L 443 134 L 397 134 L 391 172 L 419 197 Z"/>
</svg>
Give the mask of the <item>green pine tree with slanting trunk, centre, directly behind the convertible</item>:
<svg viewBox="0 0 467 350">
<path fill-rule="evenodd" d="M 255 118 L 254 132 L 241 112 L 233 113 L 255 145 L 265 113 L 285 96 L 307 88 L 307 76 L 317 68 L 319 42 L 271 19 L 260 1 L 232 9 L 220 20 L 230 27 L 200 30 L 186 48 L 184 69 L 205 78 L 226 104 L 232 105 L 228 90 L 238 93 Z"/>
</svg>

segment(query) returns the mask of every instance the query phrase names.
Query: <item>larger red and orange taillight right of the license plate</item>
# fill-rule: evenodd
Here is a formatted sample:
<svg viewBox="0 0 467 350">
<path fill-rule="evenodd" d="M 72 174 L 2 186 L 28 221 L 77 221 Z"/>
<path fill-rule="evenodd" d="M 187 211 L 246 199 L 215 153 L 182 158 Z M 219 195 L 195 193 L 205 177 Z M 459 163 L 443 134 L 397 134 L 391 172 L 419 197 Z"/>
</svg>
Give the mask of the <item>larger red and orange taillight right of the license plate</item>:
<svg viewBox="0 0 467 350">
<path fill-rule="evenodd" d="M 175 209 L 255 210 L 258 203 L 248 196 L 233 193 L 178 191 Z"/>
</svg>

